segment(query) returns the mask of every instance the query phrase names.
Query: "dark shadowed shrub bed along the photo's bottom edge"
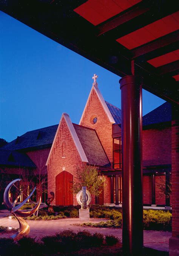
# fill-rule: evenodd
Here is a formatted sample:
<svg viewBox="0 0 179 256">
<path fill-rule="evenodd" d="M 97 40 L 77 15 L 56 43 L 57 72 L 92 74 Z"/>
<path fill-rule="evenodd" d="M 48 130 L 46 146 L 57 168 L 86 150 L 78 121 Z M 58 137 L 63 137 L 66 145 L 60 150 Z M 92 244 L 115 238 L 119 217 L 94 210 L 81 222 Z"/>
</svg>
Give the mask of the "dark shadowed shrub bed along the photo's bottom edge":
<svg viewBox="0 0 179 256">
<path fill-rule="evenodd" d="M 21 255 L 123 255 L 122 244 L 117 237 L 91 234 L 86 230 L 75 233 L 64 230 L 54 236 L 44 236 L 36 241 L 31 237 L 23 237 L 18 242 L 13 239 L 0 238 L 1 256 Z M 144 248 L 144 256 L 168 256 L 167 252 Z"/>
</svg>

